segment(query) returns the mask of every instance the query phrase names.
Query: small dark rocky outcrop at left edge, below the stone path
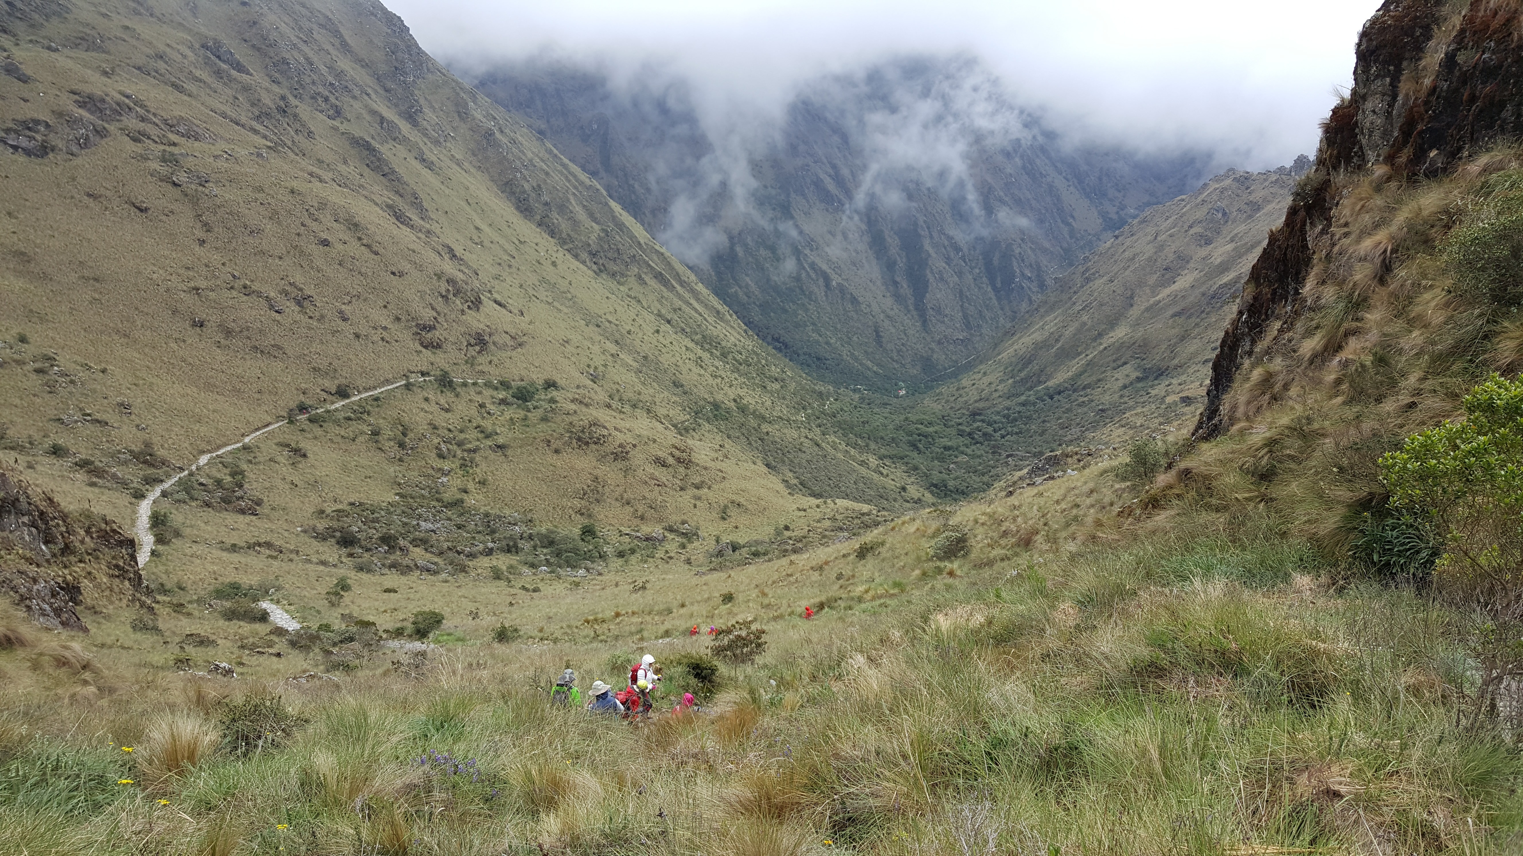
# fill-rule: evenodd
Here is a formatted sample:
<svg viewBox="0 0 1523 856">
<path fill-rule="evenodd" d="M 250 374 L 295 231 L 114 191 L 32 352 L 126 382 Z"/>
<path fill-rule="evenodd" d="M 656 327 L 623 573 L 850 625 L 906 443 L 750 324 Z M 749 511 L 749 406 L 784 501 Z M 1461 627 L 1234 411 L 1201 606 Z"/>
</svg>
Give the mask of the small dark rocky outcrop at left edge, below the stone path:
<svg viewBox="0 0 1523 856">
<path fill-rule="evenodd" d="M 152 611 L 133 538 L 107 518 L 70 515 L 47 493 L 0 469 L 0 591 L 38 624 L 88 632 L 78 606 Z"/>
</svg>

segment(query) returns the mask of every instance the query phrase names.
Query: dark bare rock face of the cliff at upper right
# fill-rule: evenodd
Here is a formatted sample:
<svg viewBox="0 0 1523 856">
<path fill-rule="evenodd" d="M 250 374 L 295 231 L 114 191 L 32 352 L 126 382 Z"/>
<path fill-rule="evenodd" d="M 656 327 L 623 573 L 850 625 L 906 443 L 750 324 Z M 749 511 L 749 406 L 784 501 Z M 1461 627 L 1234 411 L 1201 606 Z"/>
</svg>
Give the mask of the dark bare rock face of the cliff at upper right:
<svg viewBox="0 0 1523 856">
<path fill-rule="evenodd" d="M 1464 157 L 1523 136 L 1523 9 L 1471 0 L 1387 0 L 1365 24 L 1354 88 L 1322 125 L 1316 169 L 1249 271 L 1228 323 L 1194 436 L 1229 428 L 1234 379 L 1272 352 L 1304 309 L 1302 288 L 1330 245 L 1333 175 L 1384 164 L 1397 175 L 1441 175 Z"/>
</svg>

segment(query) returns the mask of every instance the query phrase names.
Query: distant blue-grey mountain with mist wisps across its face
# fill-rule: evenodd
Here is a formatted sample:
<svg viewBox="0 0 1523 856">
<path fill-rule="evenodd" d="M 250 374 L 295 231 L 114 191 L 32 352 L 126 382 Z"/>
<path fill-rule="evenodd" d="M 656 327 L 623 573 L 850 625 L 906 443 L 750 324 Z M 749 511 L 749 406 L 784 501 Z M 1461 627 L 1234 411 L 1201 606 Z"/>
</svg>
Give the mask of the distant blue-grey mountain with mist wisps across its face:
<svg viewBox="0 0 1523 856">
<path fill-rule="evenodd" d="M 1055 271 L 1203 169 L 1193 154 L 1065 140 L 966 58 L 818 78 L 743 122 L 705 113 L 658 70 L 615 84 L 533 61 L 475 85 L 778 353 L 880 391 L 984 352 Z"/>
</svg>

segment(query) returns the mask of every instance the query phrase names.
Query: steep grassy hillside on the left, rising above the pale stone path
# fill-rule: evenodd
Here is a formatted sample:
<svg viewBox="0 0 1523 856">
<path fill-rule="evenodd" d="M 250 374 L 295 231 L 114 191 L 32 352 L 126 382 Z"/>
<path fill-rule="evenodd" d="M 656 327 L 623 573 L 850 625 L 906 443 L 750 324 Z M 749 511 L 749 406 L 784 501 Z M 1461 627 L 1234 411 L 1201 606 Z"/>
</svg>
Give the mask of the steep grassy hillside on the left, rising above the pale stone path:
<svg viewBox="0 0 1523 856">
<path fill-rule="evenodd" d="M 559 431 L 600 425 L 571 472 L 623 501 L 510 498 L 565 460 L 535 442 L 504 510 L 632 525 L 682 481 L 635 474 L 688 442 L 730 443 L 705 466 L 754 525 L 790 492 L 906 501 L 911 480 L 809 428 L 801 375 L 379 5 L 17 3 L 0 23 L 0 426 L 67 501 L 128 519 L 152 474 L 445 367 L 548 378 Z M 746 431 L 694 419 L 737 408 Z"/>
</svg>

